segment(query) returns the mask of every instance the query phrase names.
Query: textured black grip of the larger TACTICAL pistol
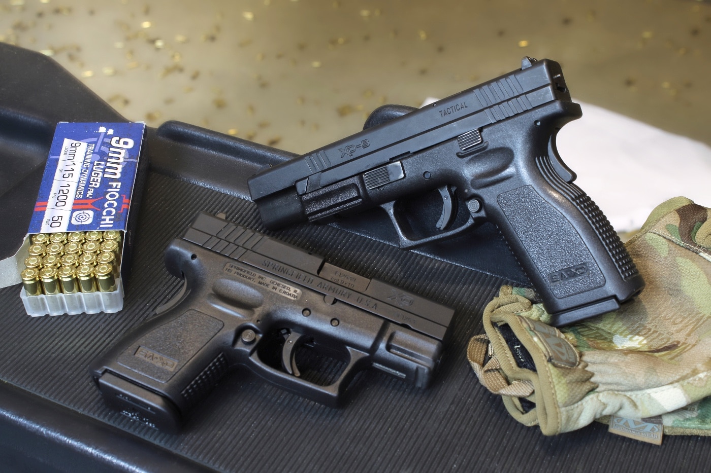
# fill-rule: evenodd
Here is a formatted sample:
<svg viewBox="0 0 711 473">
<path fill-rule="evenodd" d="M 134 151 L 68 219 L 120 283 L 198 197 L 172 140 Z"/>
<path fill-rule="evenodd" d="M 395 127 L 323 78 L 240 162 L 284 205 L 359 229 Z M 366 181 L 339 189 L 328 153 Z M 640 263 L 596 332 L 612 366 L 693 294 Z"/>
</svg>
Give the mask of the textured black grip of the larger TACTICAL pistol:
<svg viewBox="0 0 711 473">
<path fill-rule="evenodd" d="M 542 180 L 501 192 L 496 224 L 552 325 L 616 310 L 644 287 L 636 266 L 590 197 L 560 178 L 549 158 L 535 161 Z"/>
</svg>

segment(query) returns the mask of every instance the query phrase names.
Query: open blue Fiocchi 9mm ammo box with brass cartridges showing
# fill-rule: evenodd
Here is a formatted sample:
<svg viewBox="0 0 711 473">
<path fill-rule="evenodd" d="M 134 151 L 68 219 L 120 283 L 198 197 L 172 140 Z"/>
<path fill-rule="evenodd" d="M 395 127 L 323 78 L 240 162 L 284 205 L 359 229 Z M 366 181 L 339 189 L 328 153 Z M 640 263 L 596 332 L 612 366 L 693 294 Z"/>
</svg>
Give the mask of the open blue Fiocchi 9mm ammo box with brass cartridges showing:
<svg viewBox="0 0 711 473">
<path fill-rule="evenodd" d="M 60 123 L 34 208 L 20 297 L 29 315 L 118 312 L 140 123 Z"/>
</svg>

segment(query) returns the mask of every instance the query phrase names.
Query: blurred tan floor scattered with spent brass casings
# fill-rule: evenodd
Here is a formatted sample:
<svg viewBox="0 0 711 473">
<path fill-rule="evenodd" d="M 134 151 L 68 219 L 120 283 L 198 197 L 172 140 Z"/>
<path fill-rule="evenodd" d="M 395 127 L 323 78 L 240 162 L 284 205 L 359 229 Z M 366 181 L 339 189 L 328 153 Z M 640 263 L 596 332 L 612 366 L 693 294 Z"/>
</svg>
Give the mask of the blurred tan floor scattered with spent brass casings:
<svg viewBox="0 0 711 473">
<path fill-rule="evenodd" d="M 561 62 L 576 99 L 711 143 L 706 1 L 0 0 L 0 41 L 51 56 L 127 119 L 297 153 L 525 55 Z"/>
</svg>

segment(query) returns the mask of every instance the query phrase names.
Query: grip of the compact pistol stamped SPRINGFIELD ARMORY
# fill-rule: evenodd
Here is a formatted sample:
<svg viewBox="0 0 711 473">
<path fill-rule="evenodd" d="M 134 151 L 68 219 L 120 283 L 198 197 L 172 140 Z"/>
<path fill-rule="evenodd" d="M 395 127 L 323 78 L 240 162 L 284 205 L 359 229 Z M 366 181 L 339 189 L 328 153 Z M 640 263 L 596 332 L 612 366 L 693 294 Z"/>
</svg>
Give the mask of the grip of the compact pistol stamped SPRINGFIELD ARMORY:
<svg viewBox="0 0 711 473">
<path fill-rule="evenodd" d="M 91 370 L 109 406 L 169 432 L 229 367 L 223 322 L 179 309 L 141 325 Z"/>
</svg>

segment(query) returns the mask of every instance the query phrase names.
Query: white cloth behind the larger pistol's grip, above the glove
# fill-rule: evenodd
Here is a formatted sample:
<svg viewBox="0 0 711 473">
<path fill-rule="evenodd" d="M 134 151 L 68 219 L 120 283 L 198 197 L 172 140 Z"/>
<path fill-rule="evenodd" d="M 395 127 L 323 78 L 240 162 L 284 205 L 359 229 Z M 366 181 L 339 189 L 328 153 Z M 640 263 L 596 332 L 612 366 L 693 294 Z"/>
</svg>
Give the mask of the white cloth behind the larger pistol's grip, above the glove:
<svg viewBox="0 0 711 473">
<path fill-rule="evenodd" d="M 639 229 L 654 207 L 679 195 L 711 207 L 711 147 L 595 105 L 580 106 L 582 118 L 558 133 L 558 153 L 614 229 Z"/>
</svg>

